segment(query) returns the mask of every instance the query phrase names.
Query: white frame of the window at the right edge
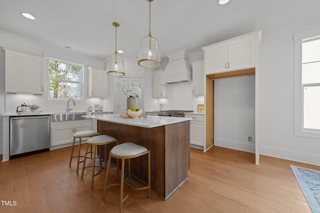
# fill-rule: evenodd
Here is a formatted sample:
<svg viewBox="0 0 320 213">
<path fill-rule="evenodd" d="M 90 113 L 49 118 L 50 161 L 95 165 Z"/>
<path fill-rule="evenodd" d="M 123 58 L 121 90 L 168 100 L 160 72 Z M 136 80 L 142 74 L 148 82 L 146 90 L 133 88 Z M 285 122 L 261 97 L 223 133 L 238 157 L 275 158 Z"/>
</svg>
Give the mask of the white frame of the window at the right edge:
<svg viewBox="0 0 320 213">
<path fill-rule="evenodd" d="M 303 128 L 302 39 L 320 35 L 319 29 L 295 33 L 294 40 L 294 135 L 320 138 L 320 130 Z"/>
</svg>

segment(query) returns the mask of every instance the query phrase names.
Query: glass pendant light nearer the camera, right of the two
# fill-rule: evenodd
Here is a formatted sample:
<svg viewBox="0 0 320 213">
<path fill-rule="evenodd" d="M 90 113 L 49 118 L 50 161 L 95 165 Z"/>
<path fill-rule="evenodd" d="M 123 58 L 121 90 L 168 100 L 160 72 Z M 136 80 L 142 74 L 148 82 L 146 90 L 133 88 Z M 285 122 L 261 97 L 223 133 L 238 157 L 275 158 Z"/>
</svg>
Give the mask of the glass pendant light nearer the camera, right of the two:
<svg viewBox="0 0 320 213">
<path fill-rule="evenodd" d="M 151 1 L 149 1 L 149 34 L 141 39 L 138 64 L 143 67 L 161 65 L 159 41 L 151 35 Z"/>
</svg>

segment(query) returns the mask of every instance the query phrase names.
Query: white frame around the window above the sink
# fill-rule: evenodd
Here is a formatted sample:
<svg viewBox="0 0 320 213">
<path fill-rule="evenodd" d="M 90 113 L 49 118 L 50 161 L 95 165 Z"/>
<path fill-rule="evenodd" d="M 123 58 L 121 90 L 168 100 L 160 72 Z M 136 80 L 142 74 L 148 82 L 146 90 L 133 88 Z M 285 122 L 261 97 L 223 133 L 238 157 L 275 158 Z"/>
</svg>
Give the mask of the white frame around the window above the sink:
<svg viewBox="0 0 320 213">
<path fill-rule="evenodd" d="M 74 99 L 74 101 L 76 103 L 85 103 L 85 92 L 84 92 L 84 89 L 85 89 L 85 85 L 84 85 L 84 68 L 85 68 L 85 65 L 83 64 L 79 64 L 79 63 L 74 63 L 74 62 L 70 62 L 70 61 L 67 61 L 67 60 L 62 60 L 62 59 L 58 59 L 58 58 L 53 58 L 53 57 L 47 57 L 46 59 L 46 69 L 45 69 L 45 84 L 46 84 L 46 90 L 45 90 L 45 103 L 65 103 L 67 102 L 69 99 L 51 99 L 49 97 L 49 90 L 50 90 L 50 78 L 49 78 L 49 60 L 56 60 L 56 61 L 60 61 L 60 62 L 63 62 L 63 63 L 69 63 L 69 64 L 72 64 L 72 65 L 76 65 L 76 66 L 81 66 L 82 67 L 82 70 L 81 70 L 81 99 Z M 73 82 L 73 81 L 67 81 L 66 82 Z"/>
</svg>

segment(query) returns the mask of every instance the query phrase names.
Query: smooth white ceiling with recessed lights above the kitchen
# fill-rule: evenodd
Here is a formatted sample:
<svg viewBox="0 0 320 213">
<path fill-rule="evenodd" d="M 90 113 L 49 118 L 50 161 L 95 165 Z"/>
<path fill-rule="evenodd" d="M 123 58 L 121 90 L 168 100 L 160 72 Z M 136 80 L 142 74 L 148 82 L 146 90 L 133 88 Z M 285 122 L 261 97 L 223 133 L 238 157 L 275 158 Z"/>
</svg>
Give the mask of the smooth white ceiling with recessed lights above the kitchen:
<svg viewBox="0 0 320 213">
<path fill-rule="evenodd" d="M 258 29 L 319 17 L 320 0 L 154 0 L 151 33 L 161 55 L 202 46 Z M 20 15 L 28 12 L 31 21 Z M 118 49 L 137 57 L 148 34 L 146 0 L 0 0 L 0 30 L 71 51 L 106 58 Z"/>
</svg>

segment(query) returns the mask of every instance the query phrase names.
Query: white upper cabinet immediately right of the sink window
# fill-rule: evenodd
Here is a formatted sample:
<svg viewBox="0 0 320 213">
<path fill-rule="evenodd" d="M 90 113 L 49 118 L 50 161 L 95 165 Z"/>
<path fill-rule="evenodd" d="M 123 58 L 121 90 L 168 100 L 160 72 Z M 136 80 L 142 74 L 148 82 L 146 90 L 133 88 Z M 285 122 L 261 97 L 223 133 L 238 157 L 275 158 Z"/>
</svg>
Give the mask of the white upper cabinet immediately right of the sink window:
<svg viewBox="0 0 320 213">
<path fill-rule="evenodd" d="M 106 98 L 107 91 L 107 75 L 106 70 L 87 67 L 88 70 L 88 98 Z"/>
</svg>

